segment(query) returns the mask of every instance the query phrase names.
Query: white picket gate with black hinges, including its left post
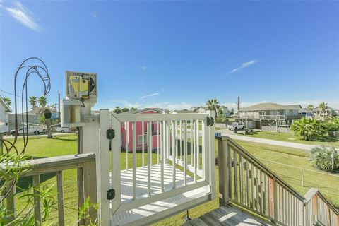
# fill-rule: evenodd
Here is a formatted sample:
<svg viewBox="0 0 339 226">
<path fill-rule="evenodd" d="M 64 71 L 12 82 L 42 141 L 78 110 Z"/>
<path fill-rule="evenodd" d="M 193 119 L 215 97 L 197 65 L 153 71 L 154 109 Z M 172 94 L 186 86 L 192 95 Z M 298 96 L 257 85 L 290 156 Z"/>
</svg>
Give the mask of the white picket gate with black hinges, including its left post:
<svg viewBox="0 0 339 226">
<path fill-rule="evenodd" d="M 102 225 L 109 225 L 107 218 L 110 225 L 148 225 L 215 198 L 213 111 L 112 114 L 103 109 L 99 118 Z M 112 141 L 107 129 L 114 129 Z M 111 201 L 107 191 L 115 193 Z"/>
</svg>

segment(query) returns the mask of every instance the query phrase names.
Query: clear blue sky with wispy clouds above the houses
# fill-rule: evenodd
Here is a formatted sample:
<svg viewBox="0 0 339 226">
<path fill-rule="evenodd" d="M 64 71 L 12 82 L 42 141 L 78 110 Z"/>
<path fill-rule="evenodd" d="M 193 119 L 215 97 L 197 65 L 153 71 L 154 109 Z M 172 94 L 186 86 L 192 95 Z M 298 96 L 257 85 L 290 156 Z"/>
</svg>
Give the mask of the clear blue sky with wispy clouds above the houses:
<svg viewBox="0 0 339 226">
<path fill-rule="evenodd" d="M 40 57 L 51 103 L 66 70 L 99 75 L 95 108 L 217 98 L 339 107 L 339 1 L 0 1 L 0 90 Z M 29 95 L 42 85 L 29 82 Z M 11 97 L 0 91 L 0 95 Z"/>
</svg>

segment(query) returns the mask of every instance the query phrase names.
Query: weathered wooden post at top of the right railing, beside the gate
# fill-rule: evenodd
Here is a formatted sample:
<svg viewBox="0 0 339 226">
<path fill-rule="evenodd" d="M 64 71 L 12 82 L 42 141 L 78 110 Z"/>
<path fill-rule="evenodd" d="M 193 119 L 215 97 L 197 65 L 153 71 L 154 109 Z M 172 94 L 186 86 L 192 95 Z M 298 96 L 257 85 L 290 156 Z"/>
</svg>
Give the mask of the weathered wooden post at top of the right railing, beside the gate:
<svg viewBox="0 0 339 226">
<path fill-rule="evenodd" d="M 219 206 L 228 206 L 229 203 L 229 169 L 228 169 L 228 139 L 225 136 L 218 140 L 218 166 L 219 166 Z"/>
</svg>

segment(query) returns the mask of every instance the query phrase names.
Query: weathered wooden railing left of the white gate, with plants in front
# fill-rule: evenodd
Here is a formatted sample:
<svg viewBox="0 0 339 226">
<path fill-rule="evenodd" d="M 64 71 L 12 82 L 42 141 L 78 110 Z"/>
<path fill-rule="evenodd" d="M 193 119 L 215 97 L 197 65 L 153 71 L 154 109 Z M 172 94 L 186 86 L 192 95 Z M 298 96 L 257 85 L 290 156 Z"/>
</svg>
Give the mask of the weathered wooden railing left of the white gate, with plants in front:
<svg viewBox="0 0 339 226">
<path fill-rule="evenodd" d="M 30 170 L 20 177 L 32 176 L 33 187 L 40 187 L 40 175 L 50 172 L 57 172 L 57 203 L 58 203 L 58 225 L 65 225 L 64 220 L 64 191 L 63 191 L 63 171 L 66 169 L 78 169 L 78 204 L 82 206 L 85 198 L 90 197 L 90 203 L 97 203 L 97 186 L 95 175 L 95 154 L 86 153 L 80 155 L 64 155 L 58 157 L 47 157 L 26 162 Z M 34 189 L 34 192 L 39 192 Z M 8 213 L 13 213 L 13 220 L 15 218 L 16 201 L 15 186 L 6 198 L 6 205 Z M 41 205 L 39 196 L 34 197 L 34 214 L 36 225 L 42 222 Z M 97 212 L 93 208 L 90 209 L 90 218 L 97 219 Z M 88 225 L 88 220 L 81 219 L 80 225 Z"/>
</svg>

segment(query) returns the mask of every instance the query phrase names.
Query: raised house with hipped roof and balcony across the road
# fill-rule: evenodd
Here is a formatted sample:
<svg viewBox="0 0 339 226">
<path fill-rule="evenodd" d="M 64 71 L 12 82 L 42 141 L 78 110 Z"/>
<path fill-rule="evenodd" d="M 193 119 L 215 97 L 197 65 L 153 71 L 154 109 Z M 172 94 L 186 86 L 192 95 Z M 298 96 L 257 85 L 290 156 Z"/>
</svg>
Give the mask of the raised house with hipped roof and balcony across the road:
<svg viewBox="0 0 339 226">
<path fill-rule="evenodd" d="M 251 129 L 283 132 L 288 131 L 293 120 L 302 117 L 299 112 L 302 112 L 301 105 L 279 105 L 265 102 L 240 108 L 235 118 Z"/>
</svg>

